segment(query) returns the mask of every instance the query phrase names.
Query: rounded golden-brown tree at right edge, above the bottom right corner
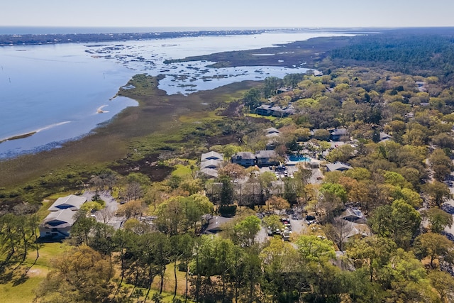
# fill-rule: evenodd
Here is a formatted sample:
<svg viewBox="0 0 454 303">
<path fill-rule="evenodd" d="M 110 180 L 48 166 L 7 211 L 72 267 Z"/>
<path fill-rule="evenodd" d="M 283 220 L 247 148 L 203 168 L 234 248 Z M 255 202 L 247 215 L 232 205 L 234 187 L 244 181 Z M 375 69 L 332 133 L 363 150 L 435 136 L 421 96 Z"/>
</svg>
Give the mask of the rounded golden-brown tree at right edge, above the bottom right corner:
<svg viewBox="0 0 454 303">
<path fill-rule="evenodd" d="M 434 260 L 438 260 L 438 263 L 442 260 L 453 263 L 454 243 L 441 234 L 423 233 L 416 237 L 414 250 L 419 258 L 430 258 L 433 269 L 435 268 Z"/>
</svg>

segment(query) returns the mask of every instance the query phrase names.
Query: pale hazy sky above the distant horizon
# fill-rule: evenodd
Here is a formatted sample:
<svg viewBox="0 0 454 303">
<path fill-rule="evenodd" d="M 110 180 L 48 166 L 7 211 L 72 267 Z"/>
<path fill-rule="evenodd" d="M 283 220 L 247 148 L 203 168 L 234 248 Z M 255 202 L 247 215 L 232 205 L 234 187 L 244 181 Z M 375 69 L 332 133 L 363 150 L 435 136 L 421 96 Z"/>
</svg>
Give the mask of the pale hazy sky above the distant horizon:
<svg viewBox="0 0 454 303">
<path fill-rule="evenodd" d="M 454 26 L 453 0 L 4 0 L 0 26 Z"/>
</svg>

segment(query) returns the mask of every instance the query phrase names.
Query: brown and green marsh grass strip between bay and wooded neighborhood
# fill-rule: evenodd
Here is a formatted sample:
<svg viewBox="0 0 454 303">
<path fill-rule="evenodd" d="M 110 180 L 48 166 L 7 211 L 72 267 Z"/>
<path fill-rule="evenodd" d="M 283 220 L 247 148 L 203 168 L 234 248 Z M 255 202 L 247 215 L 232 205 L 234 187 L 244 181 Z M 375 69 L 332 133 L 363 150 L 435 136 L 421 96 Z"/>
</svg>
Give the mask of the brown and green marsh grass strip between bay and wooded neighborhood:
<svg viewBox="0 0 454 303">
<path fill-rule="evenodd" d="M 62 148 L 0 161 L 0 202 L 40 203 L 55 192 L 77 189 L 79 180 L 121 159 L 140 160 L 162 150 L 184 150 L 204 144 L 197 129 L 201 123 L 221 121 L 219 106 L 243 96 L 258 82 L 239 82 L 189 96 L 166 95 L 157 89 L 158 78 L 136 75 L 128 82 L 135 89 L 118 95 L 130 97 L 139 106 L 129 107 L 92 133 L 63 144 Z M 25 185 L 24 185 L 25 184 Z"/>
</svg>

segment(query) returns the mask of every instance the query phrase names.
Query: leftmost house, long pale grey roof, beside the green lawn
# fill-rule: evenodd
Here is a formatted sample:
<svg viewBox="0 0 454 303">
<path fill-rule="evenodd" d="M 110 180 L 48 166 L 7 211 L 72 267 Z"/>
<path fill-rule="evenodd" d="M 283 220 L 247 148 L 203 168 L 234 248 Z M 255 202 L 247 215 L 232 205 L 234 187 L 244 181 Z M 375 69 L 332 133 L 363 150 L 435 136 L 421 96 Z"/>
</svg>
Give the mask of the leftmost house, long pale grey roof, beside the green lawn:
<svg viewBox="0 0 454 303">
<path fill-rule="evenodd" d="M 67 238 L 74 225 L 74 214 L 82 204 L 87 202 L 87 197 L 74 196 L 58 198 L 49 207 L 50 214 L 45 217 L 39 226 L 40 237 L 42 238 Z"/>
</svg>

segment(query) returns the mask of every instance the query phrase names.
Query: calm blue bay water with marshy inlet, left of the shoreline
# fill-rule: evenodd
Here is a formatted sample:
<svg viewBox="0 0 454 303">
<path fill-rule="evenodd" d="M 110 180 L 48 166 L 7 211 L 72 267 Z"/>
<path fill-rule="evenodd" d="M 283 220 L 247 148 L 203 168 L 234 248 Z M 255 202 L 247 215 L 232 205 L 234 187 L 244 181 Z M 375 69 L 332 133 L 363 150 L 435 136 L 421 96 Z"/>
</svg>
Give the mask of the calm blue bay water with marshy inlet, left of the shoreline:
<svg viewBox="0 0 454 303">
<path fill-rule="evenodd" d="M 165 60 L 226 50 L 270 47 L 335 33 L 265 33 L 171 38 L 99 45 L 57 44 L 0 48 L 0 141 L 37 131 L 33 136 L 0 143 L 0 159 L 59 147 L 109 121 L 137 102 L 116 97 L 133 75 L 165 75 L 160 89 L 190 94 L 245 79 L 284 77 L 306 72 L 304 66 L 207 68 L 211 62 Z M 340 34 L 337 34 L 340 35 Z M 102 111 L 102 113 L 100 113 Z"/>
</svg>

